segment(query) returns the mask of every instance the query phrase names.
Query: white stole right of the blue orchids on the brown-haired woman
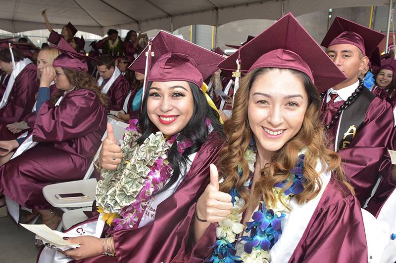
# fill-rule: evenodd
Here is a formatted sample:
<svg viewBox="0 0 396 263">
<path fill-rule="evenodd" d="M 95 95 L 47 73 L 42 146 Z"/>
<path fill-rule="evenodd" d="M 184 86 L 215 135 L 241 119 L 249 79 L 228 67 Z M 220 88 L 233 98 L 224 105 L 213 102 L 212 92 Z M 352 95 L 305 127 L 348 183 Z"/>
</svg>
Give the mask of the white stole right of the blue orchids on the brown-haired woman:
<svg viewBox="0 0 396 263">
<path fill-rule="evenodd" d="M 321 168 L 322 165 L 318 162 L 315 170 L 320 171 Z M 316 207 L 318 206 L 320 199 L 322 198 L 323 192 L 330 182 L 331 171 L 326 172 L 327 169 L 328 167 L 325 165 L 325 170 L 320 175 L 322 188 L 315 198 L 302 205 L 297 204 L 296 199 L 292 199 L 292 211 L 286 216 L 285 220 L 282 221 L 282 235 L 270 250 L 269 254 L 271 262 L 289 262 Z"/>
</svg>

